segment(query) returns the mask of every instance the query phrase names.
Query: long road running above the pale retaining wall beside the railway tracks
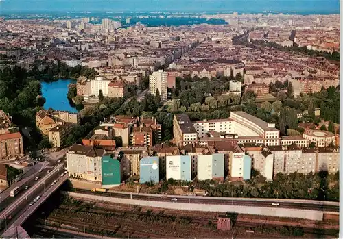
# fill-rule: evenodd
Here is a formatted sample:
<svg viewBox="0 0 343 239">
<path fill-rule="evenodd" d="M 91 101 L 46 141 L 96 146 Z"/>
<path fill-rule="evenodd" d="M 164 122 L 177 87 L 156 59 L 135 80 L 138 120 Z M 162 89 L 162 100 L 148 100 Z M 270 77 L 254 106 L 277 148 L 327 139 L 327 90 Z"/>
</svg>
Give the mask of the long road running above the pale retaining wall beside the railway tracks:
<svg viewBox="0 0 343 239">
<path fill-rule="evenodd" d="M 176 198 L 177 201 L 174 203 L 197 203 L 197 204 L 214 204 L 214 205 L 237 205 L 246 207 L 282 207 L 282 208 L 292 208 L 298 210 L 315 210 L 323 212 L 339 212 L 339 207 L 336 205 L 324 205 L 323 203 L 313 204 L 313 203 L 294 203 L 294 202 L 279 202 L 279 201 L 256 201 L 256 200 L 244 200 L 239 199 L 211 199 L 211 197 L 178 197 L 177 195 L 169 195 L 162 197 L 161 195 L 140 195 L 140 194 L 123 194 L 120 192 L 91 192 L 89 190 L 77 189 L 75 192 L 82 192 L 84 194 L 102 194 L 106 197 L 117 197 L 121 199 L 135 199 L 135 200 L 145 200 L 145 201 L 164 201 L 170 202 L 171 199 Z M 279 203 L 279 205 L 272 205 L 272 203 Z"/>
</svg>

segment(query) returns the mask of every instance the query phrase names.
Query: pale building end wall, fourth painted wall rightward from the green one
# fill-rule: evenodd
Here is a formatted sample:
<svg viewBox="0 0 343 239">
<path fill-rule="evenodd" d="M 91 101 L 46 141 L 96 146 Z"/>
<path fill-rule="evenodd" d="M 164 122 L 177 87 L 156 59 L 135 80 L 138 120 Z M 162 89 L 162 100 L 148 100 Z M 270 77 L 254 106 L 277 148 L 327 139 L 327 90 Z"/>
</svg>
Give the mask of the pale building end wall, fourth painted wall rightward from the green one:
<svg viewBox="0 0 343 239">
<path fill-rule="evenodd" d="M 198 155 L 198 179 L 224 181 L 224 153 Z"/>
</svg>

